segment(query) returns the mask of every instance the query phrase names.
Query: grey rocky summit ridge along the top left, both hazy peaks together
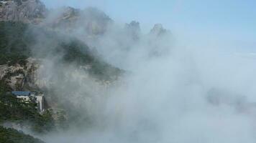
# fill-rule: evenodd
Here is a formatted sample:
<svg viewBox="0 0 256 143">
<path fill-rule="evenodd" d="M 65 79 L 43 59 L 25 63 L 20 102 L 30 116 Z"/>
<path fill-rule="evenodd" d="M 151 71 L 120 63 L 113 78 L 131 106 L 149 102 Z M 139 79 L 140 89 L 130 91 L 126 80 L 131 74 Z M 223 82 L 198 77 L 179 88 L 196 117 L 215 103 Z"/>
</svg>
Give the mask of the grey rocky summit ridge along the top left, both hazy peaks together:
<svg viewBox="0 0 256 143">
<path fill-rule="evenodd" d="M 55 16 L 52 16 L 55 14 Z M 96 8 L 74 9 L 63 7 L 49 10 L 40 0 L 2 0 L 0 1 L 0 21 L 22 21 L 24 23 L 43 24 L 56 30 L 72 31 L 83 27 L 86 34 L 94 36 L 104 34 L 112 20 Z"/>
</svg>

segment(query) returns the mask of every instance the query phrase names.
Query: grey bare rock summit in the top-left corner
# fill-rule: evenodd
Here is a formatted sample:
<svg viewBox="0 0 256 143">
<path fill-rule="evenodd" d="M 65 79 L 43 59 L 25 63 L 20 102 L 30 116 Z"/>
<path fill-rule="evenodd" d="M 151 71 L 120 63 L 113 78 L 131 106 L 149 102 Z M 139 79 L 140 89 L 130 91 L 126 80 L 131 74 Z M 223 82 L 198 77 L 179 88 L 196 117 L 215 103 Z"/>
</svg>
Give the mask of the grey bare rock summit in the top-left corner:
<svg viewBox="0 0 256 143">
<path fill-rule="evenodd" d="M 39 23 L 46 14 L 45 5 L 39 0 L 0 1 L 0 21 Z"/>
</svg>

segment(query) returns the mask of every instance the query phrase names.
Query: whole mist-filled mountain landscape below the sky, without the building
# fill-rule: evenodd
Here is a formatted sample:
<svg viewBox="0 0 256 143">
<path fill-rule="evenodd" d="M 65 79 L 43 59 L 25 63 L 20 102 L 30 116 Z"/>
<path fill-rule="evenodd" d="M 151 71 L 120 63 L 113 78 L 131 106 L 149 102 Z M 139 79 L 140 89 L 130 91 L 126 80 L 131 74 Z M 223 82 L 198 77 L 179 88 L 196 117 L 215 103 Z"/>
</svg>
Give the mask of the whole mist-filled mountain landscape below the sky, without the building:
<svg viewBox="0 0 256 143">
<path fill-rule="evenodd" d="M 0 21 L 0 142 L 256 141 L 251 51 L 39 0 L 0 1 Z M 44 94 L 44 112 L 13 91 Z"/>
</svg>

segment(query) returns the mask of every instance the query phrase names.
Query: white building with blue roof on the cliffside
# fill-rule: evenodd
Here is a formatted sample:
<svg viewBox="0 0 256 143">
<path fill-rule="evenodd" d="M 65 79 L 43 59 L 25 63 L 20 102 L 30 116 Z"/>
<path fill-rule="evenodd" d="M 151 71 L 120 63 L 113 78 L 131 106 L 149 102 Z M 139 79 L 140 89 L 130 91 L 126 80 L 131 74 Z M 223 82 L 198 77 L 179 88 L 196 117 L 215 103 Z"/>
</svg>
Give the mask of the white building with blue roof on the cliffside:
<svg viewBox="0 0 256 143">
<path fill-rule="evenodd" d="M 35 101 L 37 102 L 37 109 L 40 112 L 43 112 L 45 109 L 45 97 L 44 94 L 36 94 L 35 92 L 12 92 L 17 98 L 23 99 L 25 102 L 31 101 L 33 98 L 35 98 Z"/>
</svg>

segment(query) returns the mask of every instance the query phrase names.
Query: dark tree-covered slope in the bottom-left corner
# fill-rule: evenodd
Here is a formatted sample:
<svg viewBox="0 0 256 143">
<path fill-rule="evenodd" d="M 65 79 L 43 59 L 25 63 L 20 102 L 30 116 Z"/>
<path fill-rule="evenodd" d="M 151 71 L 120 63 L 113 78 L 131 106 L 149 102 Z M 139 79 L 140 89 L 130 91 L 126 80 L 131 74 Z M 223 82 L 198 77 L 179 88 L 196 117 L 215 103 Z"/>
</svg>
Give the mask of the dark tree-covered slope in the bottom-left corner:
<svg viewBox="0 0 256 143">
<path fill-rule="evenodd" d="M 43 143 L 40 139 L 0 126 L 0 143 Z"/>
</svg>

